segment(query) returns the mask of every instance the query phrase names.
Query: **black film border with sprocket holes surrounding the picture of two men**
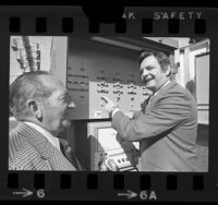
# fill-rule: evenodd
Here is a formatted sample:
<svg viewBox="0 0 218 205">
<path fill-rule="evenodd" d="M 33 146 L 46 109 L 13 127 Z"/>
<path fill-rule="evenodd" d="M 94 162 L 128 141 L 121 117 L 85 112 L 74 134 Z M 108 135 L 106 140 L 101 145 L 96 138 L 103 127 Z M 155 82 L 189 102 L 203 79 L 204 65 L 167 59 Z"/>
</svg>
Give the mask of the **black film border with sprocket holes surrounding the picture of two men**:
<svg viewBox="0 0 218 205">
<path fill-rule="evenodd" d="M 40 8 L 40 7 L 39 7 Z M 181 21 L 179 19 L 173 20 L 162 20 L 162 22 L 157 22 L 154 19 L 152 19 L 150 13 L 157 10 L 164 10 L 164 11 L 172 11 L 172 8 L 154 8 L 152 11 L 147 11 L 147 8 L 140 8 L 140 11 L 136 11 L 136 13 L 140 12 L 140 21 L 136 20 L 137 23 L 129 22 L 129 20 L 121 20 L 116 26 L 113 26 L 113 29 L 111 29 L 111 26 L 107 25 L 95 25 L 92 24 L 96 28 L 94 31 L 92 29 L 93 26 L 89 27 L 89 22 L 86 17 L 80 19 L 81 12 L 77 9 L 69 9 L 69 8 L 62 8 L 57 9 L 59 11 L 58 21 L 53 20 L 53 11 L 50 9 L 45 9 L 45 11 L 41 11 L 40 14 L 34 14 L 34 16 L 31 16 L 27 22 L 25 20 L 25 16 L 31 15 L 31 13 L 26 13 L 26 8 L 19 11 L 19 15 L 13 15 L 12 10 L 16 10 L 13 7 L 8 7 L 8 11 L 1 11 L 3 13 L 2 17 L 0 19 L 0 22 L 2 23 L 2 34 L 1 34 L 1 56 L 4 57 L 2 67 L 5 68 L 3 70 L 3 80 L 1 81 L 1 87 L 3 87 L 3 91 L 8 91 L 9 85 L 9 73 L 7 68 L 9 68 L 9 52 L 5 52 L 5 50 L 9 49 L 9 38 L 11 35 L 40 35 L 40 36 L 62 36 L 62 35 L 93 35 L 93 34 L 100 34 L 100 35 L 148 35 L 148 36 L 160 36 L 158 35 L 158 32 L 162 32 L 162 36 L 165 37 L 171 37 L 175 35 L 175 37 L 183 37 L 183 36 L 193 36 L 193 37 L 208 37 L 210 39 L 210 68 L 216 68 L 216 56 L 213 53 L 216 53 L 215 50 L 217 50 L 217 33 L 216 31 L 216 22 L 211 21 L 215 20 L 216 9 L 196 9 L 198 11 L 203 11 L 204 19 L 201 20 L 184 20 Z M 38 8 L 32 8 L 29 9 L 33 12 L 38 11 Z M 126 10 L 132 8 L 126 8 Z M 65 10 L 69 12 L 65 13 Z M 181 11 L 181 9 L 174 9 L 178 12 Z M 189 8 L 185 8 L 183 10 L 187 10 Z M 195 10 L 195 9 L 192 9 Z M 47 13 L 47 11 L 49 11 Z M 143 11 L 147 11 L 146 15 L 144 16 L 142 14 Z M 74 13 L 75 12 L 75 13 Z M 76 13 L 77 12 L 77 13 Z M 62 16 L 63 14 L 63 16 Z M 142 16 L 144 17 L 142 17 Z M 52 19 L 52 20 L 51 20 Z M 80 21 L 78 21 L 80 20 Z M 81 21 L 85 22 L 82 26 Z M 24 24 L 25 22 L 25 24 Z M 57 23 L 58 22 L 58 23 Z M 80 22 L 81 25 L 77 24 Z M 126 23 L 126 24 L 125 24 Z M 179 25 L 178 25 L 179 23 Z M 136 25 L 135 25 L 136 24 Z M 161 24 L 161 25 L 160 25 Z M 20 25 L 20 26 L 17 26 Z M 142 26 L 138 26 L 142 25 Z M 190 29 L 190 26 L 192 29 Z M 52 28 L 51 28 L 52 27 Z M 123 28 L 124 27 L 124 28 Z M 135 28 L 130 31 L 130 28 Z M 88 28 L 88 29 L 87 29 Z M 102 29 L 99 29 L 102 28 Z M 5 49 L 5 50 L 3 50 Z M 8 59 L 8 60 L 5 60 Z M 216 99 L 215 96 L 215 88 L 217 83 L 215 81 L 215 76 L 217 76 L 217 71 L 215 69 L 210 69 L 210 91 L 209 91 L 209 101 L 210 101 L 210 110 L 209 111 L 209 134 L 215 133 L 215 114 L 216 112 Z M 5 96 L 8 96 L 8 92 L 5 92 Z M 8 106 L 8 100 L 3 99 L 1 101 L 1 109 Z M 2 109 L 3 110 L 3 109 Z M 5 122 L 5 119 L 8 119 L 8 113 L 2 114 L 3 121 L 3 128 L 9 128 L 9 122 Z M 8 125 L 8 126 L 7 126 Z M 3 134 L 4 133 L 4 134 Z M 2 131 L 3 135 L 8 135 L 8 129 Z M 150 197 L 150 193 L 154 191 L 157 197 L 157 201 L 184 201 L 184 197 L 187 197 L 189 201 L 202 201 L 202 202 L 214 202 L 217 201 L 217 192 L 218 192 L 218 179 L 217 179 L 217 171 L 218 168 L 216 167 L 216 160 L 213 158 L 213 156 L 216 156 L 216 140 L 210 138 L 209 140 L 209 171 L 207 173 L 181 173 L 181 172 L 172 172 L 172 173 L 149 173 L 149 172 L 140 172 L 140 173 L 130 173 L 130 172 L 32 172 L 32 171 L 8 171 L 8 147 L 1 145 L 1 154 L 2 156 L 7 156 L 5 159 L 1 159 L 1 165 L 7 165 L 3 167 L 3 169 L 0 169 L 0 179 L 3 181 L 2 186 L 0 186 L 0 198 L 1 200 L 8 200 L 8 198 L 14 198 L 14 200 L 24 200 L 24 197 L 21 196 L 14 196 L 12 193 L 14 190 L 26 188 L 27 190 L 34 190 L 34 193 L 29 197 L 25 198 L 45 198 L 45 200 L 131 200 L 128 197 L 118 197 L 118 192 L 126 193 L 126 190 L 133 192 L 137 192 L 137 196 L 133 197 L 134 201 L 152 201 L 155 200 L 155 196 L 153 195 Z M 8 138 L 3 138 L 3 145 L 4 143 L 8 144 Z M 7 155 L 5 155 L 7 154 Z M 26 178 L 28 176 L 29 178 Z M 57 178 L 58 176 L 58 178 Z M 52 179 L 53 184 L 49 184 L 49 179 Z M 80 179 L 77 181 L 77 179 Z M 69 183 L 68 181 L 71 181 Z M 64 182 L 65 181 L 65 182 Z M 15 183 L 14 183 L 15 182 Z M 31 184 L 29 184 L 31 182 Z M 81 183 L 82 182 L 82 183 Z M 105 182 L 109 184 L 108 189 L 105 188 Z M 28 185 L 27 185 L 28 184 Z M 57 190 L 58 189 L 58 190 Z M 184 191 L 184 189 L 186 189 Z M 56 195 L 57 192 L 60 195 Z M 66 192 L 68 190 L 68 192 Z M 108 191 L 108 192 L 106 192 Z M 145 191 L 145 192 L 143 192 Z M 3 194 L 1 194 L 3 193 Z M 128 192 L 130 193 L 130 192 Z M 96 195 L 101 195 L 101 197 L 96 198 Z M 85 195 L 85 198 L 84 198 Z M 56 197 L 53 197 L 56 196 Z M 178 202 L 179 202 L 178 201 Z"/>
</svg>

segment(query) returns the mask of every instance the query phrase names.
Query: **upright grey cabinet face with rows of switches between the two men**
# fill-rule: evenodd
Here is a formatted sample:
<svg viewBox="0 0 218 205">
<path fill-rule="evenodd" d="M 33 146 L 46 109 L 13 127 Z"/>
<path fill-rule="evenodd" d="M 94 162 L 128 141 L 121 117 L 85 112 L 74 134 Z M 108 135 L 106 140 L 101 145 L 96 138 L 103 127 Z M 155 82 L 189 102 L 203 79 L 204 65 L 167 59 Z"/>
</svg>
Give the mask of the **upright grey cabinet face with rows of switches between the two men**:
<svg viewBox="0 0 218 205">
<path fill-rule="evenodd" d="M 66 86 L 76 106 L 70 110 L 71 119 L 109 118 L 102 96 L 117 102 L 123 112 L 140 110 L 150 93 L 142 85 L 138 53 L 83 44 L 78 50 L 74 45 L 68 58 Z"/>
</svg>

